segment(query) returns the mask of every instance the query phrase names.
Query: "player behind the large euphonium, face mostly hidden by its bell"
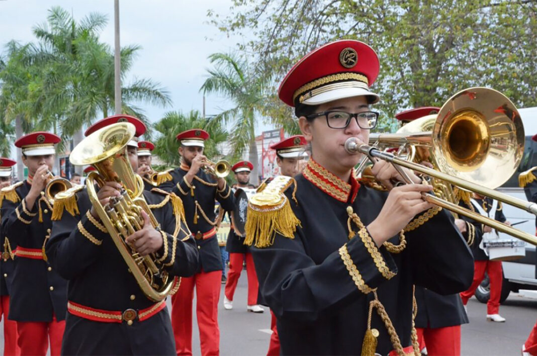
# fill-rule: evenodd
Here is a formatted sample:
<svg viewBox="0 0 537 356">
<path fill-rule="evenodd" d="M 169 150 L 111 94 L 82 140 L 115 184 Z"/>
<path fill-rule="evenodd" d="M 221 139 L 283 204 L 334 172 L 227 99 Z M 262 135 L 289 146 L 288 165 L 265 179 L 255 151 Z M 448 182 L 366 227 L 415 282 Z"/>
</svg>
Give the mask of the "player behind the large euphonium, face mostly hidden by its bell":
<svg viewBox="0 0 537 356">
<path fill-rule="evenodd" d="M 136 177 L 136 141 L 146 130 L 142 121 L 114 115 L 97 121 L 85 135 L 117 122 L 129 122 L 135 127 L 135 137 L 127 143 L 126 155 L 130 175 Z M 80 143 L 83 144 L 85 140 Z M 119 155 L 114 156 L 118 159 Z M 118 181 L 106 181 L 95 199 L 105 207 L 120 196 L 121 190 Z M 162 267 L 170 278 L 193 274 L 198 268 L 198 251 L 180 214 L 180 200 L 157 190 L 142 194 L 160 228 L 155 228 L 148 214 L 142 212 L 143 226 L 125 242 L 137 256 L 153 256 L 155 265 Z M 77 188 L 68 199 L 77 208 L 62 211 L 46 246 L 54 269 L 69 280 L 69 313 L 62 353 L 175 354 L 165 300 L 151 300 L 146 290 L 142 291 L 139 281 L 133 278 L 135 271 L 126 265 L 105 222 L 100 220 L 96 205 L 92 205 L 88 189 Z M 176 282 L 173 288 L 177 286 Z"/>
</svg>

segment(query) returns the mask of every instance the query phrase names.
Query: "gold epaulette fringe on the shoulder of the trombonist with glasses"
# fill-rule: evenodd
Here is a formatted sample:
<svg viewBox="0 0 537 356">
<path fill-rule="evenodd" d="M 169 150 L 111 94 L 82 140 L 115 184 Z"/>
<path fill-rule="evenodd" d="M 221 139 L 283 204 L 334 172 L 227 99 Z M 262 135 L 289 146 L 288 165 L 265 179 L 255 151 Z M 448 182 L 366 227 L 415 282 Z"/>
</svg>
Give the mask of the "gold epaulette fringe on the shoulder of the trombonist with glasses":
<svg viewBox="0 0 537 356">
<path fill-rule="evenodd" d="M 271 246 L 277 233 L 287 238 L 294 238 L 300 220 L 293 213 L 289 200 L 285 197 L 284 199 L 283 206 L 277 209 L 254 210 L 250 204 L 248 205 L 245 245 L 254 244 L 257 248 Z"/>
</svg>

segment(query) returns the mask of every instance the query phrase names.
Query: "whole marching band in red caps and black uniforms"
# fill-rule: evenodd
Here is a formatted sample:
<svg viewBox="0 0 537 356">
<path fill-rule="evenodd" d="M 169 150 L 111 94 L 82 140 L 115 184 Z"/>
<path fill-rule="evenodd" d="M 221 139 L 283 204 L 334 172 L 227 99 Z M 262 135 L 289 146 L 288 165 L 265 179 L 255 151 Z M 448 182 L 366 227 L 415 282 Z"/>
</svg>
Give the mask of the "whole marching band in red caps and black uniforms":
<svg viewBox="0 0 537 356">
<path fill-rule="evenodd" d="M 267 355 L 459 355 L 466 304 L 485 271 L 486 317 L 505 322 L 502 265 L 480 248 L 490 227 L 424 200 L 434 187 L 411 170 L 377 160 L 375 184 L 357 176 L 362 155 L 346 142 L 369 142 L 379 69 L 374 50 L 354 40 L 297 62 L 278 95 L 294 107 L 302 135 L 271 147 L 281 174 L 259 187 L 250 184 L 248 161 L 230 167 L 236 185 L 228 185 L 204 155 L 210 137 L 202 128 L 178 133 L 180 166 L 156 172 L 153 143 L 139 141 L 143 122 L 113 115 L 85 132 L 104 147 L 85 157 L 86 184 L 75 174 L 53 195 L 60 137 L 20 137 L 27 178 L 11 181 L 16 162 L 0 158 L 4 354 L 192 354 L 194 290 L 201 354 L 220 354 L 217 307 L 237 307 L 244 265 L 246 310 L 270 308 Z M 404 124 L 438 109 L 397 118 Z M 118 142 L 124 151 L 103 154 Z M 256 191 L 244 231 L 230 229 L 226 277 L 216 232 L 237 208 L 239 189 Z M 509 223 L 490 198 L 460 204 Z M 442 238 L 432 238 L 439 231 Z M 523 352 L 537 354 L 536 333 Z"/>
</svg>

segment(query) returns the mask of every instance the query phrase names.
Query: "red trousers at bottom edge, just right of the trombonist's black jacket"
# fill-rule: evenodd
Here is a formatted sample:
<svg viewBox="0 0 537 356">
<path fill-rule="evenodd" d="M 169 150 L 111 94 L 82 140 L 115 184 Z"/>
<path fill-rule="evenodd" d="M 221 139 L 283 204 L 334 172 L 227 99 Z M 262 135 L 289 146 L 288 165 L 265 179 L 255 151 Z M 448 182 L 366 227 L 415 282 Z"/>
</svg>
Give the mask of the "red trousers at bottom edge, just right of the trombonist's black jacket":
<svg viewBox="0 0 537 356">
<path fill-rule="evenodd" d="M 461 354 L 461 325 L 445 328 L 416 328 L 419 348 L 427 346 L 430 356 L 459 356 Z"/>
</svg>

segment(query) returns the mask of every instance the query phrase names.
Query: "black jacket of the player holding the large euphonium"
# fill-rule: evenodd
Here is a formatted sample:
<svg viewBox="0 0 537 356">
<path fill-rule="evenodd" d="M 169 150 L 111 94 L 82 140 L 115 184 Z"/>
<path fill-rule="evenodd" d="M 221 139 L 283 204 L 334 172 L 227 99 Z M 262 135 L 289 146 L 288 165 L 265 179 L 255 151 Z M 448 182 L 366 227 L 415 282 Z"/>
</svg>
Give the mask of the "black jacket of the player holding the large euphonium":
<svg viewBox="0 0 537 356">
<path fill-rule="evenodd" d="M 91 202 L 85 188 L 76 194 L 80 215 L 64 211 L 47 243 L 53 267 L 69 280 L 69 301 L 107 311 L 142 310 L 155 304 L 137 285 L 110 235 L 89 219 Z M 198 268 L 198 252 L 185 224 L 181 222 L 176 229 L 169 202 L 156 207 L 166 195 L 147 191 L 143 195 L 166 235 L 156 256 L 164 258 L 161 263 L 171 278 L 192 275 Z M 68 313 L 62 354 L 175 354 L 174 345 L 166 308 L 133 325 L 91 321 Z"/>
</svg>

